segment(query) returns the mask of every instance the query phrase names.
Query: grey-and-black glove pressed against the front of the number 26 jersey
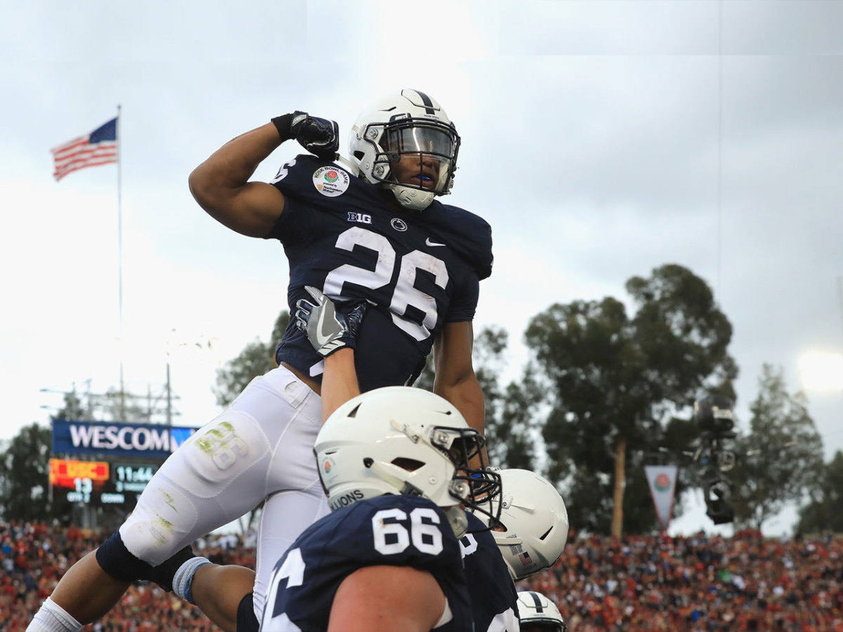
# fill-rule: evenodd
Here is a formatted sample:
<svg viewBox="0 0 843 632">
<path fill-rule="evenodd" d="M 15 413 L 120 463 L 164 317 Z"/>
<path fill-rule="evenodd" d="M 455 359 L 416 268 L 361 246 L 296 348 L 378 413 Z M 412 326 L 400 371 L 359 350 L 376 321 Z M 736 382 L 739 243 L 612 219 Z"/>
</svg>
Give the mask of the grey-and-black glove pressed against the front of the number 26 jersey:
<svg viewBox="0 0 843 632">
<path fill-rule="evenodd" d="M 316 352 L 327 357 L 343 347 L 353 349 L 368 303 L 346 303 L 337 311 L 334 302 L 318 289 L 310 286 L 304 289 L 315 303 L 305 298 L 298 299 L 294 318 L 296 326 L 308 336 Z"/>
</svg>

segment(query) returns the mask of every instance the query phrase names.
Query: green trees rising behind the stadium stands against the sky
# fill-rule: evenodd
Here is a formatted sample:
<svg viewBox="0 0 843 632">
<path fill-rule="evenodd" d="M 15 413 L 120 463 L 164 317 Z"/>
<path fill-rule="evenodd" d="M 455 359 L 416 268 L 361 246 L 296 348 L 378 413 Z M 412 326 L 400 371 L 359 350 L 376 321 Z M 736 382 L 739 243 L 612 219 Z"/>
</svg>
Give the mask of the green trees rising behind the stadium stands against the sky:
<svg viewBox="0 0 843 632">
<path fill-rule="evenodd" d="M 701 436 L 695 399 L 735 399 L 738 367 L 729 355 L 732 325 L 706 281 L 680 265 L 662 265 L 626 281 L 615 297 L 550 305 L 529 320 L 529 361 L 503 383 L 507 332 L 476 332 L 475 371 L 486 395 L 492 463 L 540 471 L 556 481 L 579 531 L 653 533 L 658 520 L 643 466 L 679 465 L 674 514 L 699 493 L 688 455 Z M 284 311 L 269 341 L 254 340 L 217 372 L 217 404 L 275 367 L 274 341 L 289 322 Z M 432 388 L 432 363 L 416 381 Z M 823 461 L 819 433 L 803 393 L 787 392 L 780 368 L 765 364 L 749 406 L 749 424 L 734 439 L 736 528 L 760 528 L 784 506 L 800 506 L 797 531 L 843 531 L 843 453 Z M 56 416 L 73 415 L 72 401 Z M 744 427 L 746 426 L 746 427 Z M 49 428 L 27 426 L 0 446 L 0 511 L 4 519 L 69 519 L 45 492 Z M 61 511 L 60 511 L 61 510 Z M 702 527 L 703 525 L 701 525 Z"/>
</svg>

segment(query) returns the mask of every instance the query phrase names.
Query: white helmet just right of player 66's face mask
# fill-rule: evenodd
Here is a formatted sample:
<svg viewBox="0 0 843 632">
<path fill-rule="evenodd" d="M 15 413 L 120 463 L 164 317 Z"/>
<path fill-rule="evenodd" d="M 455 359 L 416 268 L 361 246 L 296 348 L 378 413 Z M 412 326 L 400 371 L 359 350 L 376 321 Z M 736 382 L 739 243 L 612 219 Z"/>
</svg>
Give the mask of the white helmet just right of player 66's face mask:
<svg viewBox="0 0 843 632">
<path fill-rule="evenodd" d="M 545 477 L 529 469 L 502 469 L 499 474 L 502 493 L 491 504 L 500 505 L 501 524 L 491 533 L 513 581 L 523 580 L 559 560 L 568 539 L 568 511 Z"/>
</svg>

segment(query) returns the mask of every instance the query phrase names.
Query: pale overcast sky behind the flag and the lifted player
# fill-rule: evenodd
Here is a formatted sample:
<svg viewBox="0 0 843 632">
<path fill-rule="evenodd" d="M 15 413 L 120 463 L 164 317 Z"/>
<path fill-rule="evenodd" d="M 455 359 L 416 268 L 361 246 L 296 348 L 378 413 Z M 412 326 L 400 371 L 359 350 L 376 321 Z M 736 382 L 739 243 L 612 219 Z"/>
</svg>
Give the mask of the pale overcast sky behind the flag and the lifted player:
<svg viewBox="0 0 843 632">
<path fill-rule="evenodd" d="M 463 139 L 447 201 L 491 223 L 475 328 L 509 331 L 513 367 L 530 317 L 626 300 L 628 278 L 665 263 L 706 279 L 733 324 L 743 426 L 762 363 L 795 392 L 803 353 L 843 350 L 843 3 L 234 4 L 0 0 L 0 439 L 46 423 L 61 400 L 40 389 L 115 387 L 121 356 L 128 388 L 157 393 L 168 336 L 218 338 L 223 361 L 267 340 L 286 307 L 282 248 L 214 222 L 187 175 L 292 110 L 345 139 L 404 87 L 438 99 Z M 117 169 L 56 183 L 49 151 L 118 104 L 122 351 Z M 296 153 L 284 144 L 255 178 Z M 176 422 L 211 419 L 214 367 L 176 354 L 171 368 Z M 843 388 L 809 398 L 830 458 Z M 674 530 L 700 526 L 691 511 Z"/>
</svg>

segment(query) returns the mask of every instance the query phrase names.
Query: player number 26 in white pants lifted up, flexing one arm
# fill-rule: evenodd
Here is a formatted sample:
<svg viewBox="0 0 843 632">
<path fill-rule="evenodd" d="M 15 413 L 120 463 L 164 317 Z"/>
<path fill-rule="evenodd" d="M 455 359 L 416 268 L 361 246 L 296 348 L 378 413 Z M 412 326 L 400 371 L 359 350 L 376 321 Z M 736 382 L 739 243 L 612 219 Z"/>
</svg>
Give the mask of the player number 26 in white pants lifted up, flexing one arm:
<svg viewBox="0 0 843 632">
<path fill-rule="evenodd" d="M 250 181 L 291 139 L 310 153 L 288 161 L 271 183 Z M 479 281 L 491 274 L 491 230 L 438 200 L 457 167 L 453 123 L 437 101 L 405 89 L 358 117 L 348 158 L 338 147 L 335 122 L 298 110 L 277 116 L 201 163 L 191 192 L 224 226 L 281 242 L 291 311 L 308 297 L 305 286 L 368 303 L 356 356 L 362 391 L 412 383 L 433 350 L 435 393 L 482 431 L 471 321 Z M 255 613 L 262 611 L 271 565 L 328 511 L 311 455 L 322 356 L 291 325 L 276 359 L 279 367 L 253 380 L 158 469 L 132 515 L 62 576 L 27 632 L 75 632 L 137 579 L 171 588 L 157 566 L 189 559 L 197 537 L 266 499 L 254 591 Z"/>
</svg>

